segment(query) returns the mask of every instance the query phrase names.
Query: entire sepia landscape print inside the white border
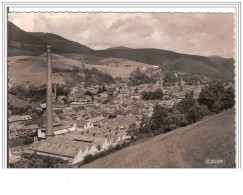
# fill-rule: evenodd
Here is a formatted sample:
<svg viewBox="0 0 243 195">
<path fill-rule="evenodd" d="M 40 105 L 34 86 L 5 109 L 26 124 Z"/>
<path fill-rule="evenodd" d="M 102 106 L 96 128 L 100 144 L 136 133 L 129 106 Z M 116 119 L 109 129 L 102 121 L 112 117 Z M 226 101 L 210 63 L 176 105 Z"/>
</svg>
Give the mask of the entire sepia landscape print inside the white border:
<svg viewBox="0 0 243 195">
<path fill-rule="evenodd" d="M 234 14 L 9 13 L 10 168 L 235 168 Z"/>
</svg>

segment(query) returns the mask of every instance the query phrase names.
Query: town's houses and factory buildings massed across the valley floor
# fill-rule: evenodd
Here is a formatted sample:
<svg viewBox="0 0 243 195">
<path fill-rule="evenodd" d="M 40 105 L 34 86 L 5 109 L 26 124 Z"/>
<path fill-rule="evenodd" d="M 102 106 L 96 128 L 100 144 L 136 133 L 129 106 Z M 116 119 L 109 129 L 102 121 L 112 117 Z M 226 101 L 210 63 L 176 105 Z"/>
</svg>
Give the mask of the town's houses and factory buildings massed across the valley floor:
<svg viewBox="0 0 243 195">
<path fill-rule="evenodd" d="M 157 67 L 154 69 L 159 75 L 160 70 Z M 156 104 L 171 108 L 191 91 L 194 98 L 198 98 L 202 87 L 183 82 L 163 86 L 162 80 L 134 87 L 127 83 L 109 84 L 105 88 L 87 87 L 80 83 L 71 89 L 69 95 L 55 96 L 52 139 L 46 139 L 45 125 L 38 126 L 30 115 L 9 117 L 9 139 L 31 135 L 35 141 L 30 150 L 75 164 L 88 154 L 93 155 L 129 141 L 129 129 L 138 127 L 144 116 L 151 117 Z M 163 91 L 163 99 L 142 99 L 143 91 L 156 89 Z M 36 109 L 43 112 L 44 123 L 46 104 L 40 104 Z"/>
</svg>

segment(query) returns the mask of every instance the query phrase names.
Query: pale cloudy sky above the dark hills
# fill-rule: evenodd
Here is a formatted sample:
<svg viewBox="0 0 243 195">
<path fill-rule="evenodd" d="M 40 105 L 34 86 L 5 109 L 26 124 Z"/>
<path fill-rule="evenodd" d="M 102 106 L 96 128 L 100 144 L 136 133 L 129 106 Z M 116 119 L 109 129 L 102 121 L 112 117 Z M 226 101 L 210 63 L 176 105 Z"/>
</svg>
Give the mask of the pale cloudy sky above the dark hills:
<svg viewBox="0 0 243 195">
<path fill-rule="evenodd" d="M 195 13 L 10 13 L 25 31 L 50 32 L 93 49 L 159 48 L 234 56 L 234 15 Z"/>
</svg>

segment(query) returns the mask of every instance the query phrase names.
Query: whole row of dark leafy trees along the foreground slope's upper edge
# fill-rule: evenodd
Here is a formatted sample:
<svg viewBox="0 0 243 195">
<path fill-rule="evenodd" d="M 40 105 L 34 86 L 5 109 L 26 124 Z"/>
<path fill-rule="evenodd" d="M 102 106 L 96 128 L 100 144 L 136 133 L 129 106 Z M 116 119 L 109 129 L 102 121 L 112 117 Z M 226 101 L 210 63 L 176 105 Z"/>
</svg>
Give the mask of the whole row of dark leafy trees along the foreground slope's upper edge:
<svg viewBox="0 0 243 195">
<path fill-rule="evenodd" d="M 140 127 L 132 129 L 130 134 L 163 134 L 230 109 L 234 102 L 234 89 L 225 89 L 221 83 L 212 83 L 202 90 L 198 100 L 193 99 L 193 93 L 190 93 L 173 108 L 156 105 L 152 117 L 143 118 Z"/>
</svg>

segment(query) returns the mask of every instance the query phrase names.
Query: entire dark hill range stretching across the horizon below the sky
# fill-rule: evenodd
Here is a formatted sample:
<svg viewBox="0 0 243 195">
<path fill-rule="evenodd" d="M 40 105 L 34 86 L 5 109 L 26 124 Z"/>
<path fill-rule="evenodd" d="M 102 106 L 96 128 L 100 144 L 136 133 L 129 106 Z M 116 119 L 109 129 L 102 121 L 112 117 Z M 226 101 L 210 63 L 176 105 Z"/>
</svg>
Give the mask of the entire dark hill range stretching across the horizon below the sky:
<svg viewBox="0 0 243 195">
<path fill-rule="evenodd" d="M 67 54 L 69 58 L 73 56 L 75 60 L 85 58 L 85 62 L 90 64 L 106 58 L 119 58 L 144 64 L 159 65 L 163 70 L 202 74 L 216 80 L 234 79 L 233 58 L 187 55 L 153 48 L 131 49 L 123 46 L 106 50 L 93 50 L 59 35 L 25 32 L 11 22 L 8 23 L 8 33 L 9 56 L 37 56 L 46 51 L 46 45 L 51 45 L 54 53 L 64 56 Z"/>
</svg>

